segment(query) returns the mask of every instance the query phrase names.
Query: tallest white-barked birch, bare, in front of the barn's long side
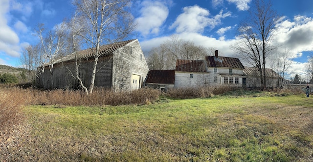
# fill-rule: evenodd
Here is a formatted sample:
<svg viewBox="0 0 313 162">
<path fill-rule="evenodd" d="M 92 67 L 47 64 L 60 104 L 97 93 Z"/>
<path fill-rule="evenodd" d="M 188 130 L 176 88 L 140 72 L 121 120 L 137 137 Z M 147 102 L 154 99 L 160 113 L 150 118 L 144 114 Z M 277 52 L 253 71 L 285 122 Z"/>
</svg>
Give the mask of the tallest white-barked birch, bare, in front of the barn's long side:
<svg viewBox="0 0 313 162">
<path fill-rule="evenodd" d="M 132 0 L 73 0 L 77 16 L 88 26 L 87 33 L 80 35 L 94 58 L 89 94 L 94 86 L 100 45 L 123 40 L 134 30 L 133 16 L 128 10 L 131 2 Z"/>
</svg>

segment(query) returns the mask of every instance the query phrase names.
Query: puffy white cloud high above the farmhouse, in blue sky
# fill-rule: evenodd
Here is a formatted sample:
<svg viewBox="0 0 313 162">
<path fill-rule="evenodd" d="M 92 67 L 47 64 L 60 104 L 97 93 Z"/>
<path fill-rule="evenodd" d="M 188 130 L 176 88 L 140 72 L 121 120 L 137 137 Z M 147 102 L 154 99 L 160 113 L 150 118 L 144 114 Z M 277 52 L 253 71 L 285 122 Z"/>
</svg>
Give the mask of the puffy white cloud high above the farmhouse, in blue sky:
<svg viewBox="0 0 313 162">
<path fill-rule="evenodd" d="M 218 15 L 210 17 L 209 11 L 198 5 L 184 7 L 183 13 L 177 17 L 175 22 L 170 26 L 170 29 L 176 28 L 176 32 L 178 33 L 202 33 L 205 27 L 209 26 L 213 29 L 222 23 L 221 19 L 230 15 L 230 12 L 223 13 L 223 10 L 221 10 Z"/>
</svg>

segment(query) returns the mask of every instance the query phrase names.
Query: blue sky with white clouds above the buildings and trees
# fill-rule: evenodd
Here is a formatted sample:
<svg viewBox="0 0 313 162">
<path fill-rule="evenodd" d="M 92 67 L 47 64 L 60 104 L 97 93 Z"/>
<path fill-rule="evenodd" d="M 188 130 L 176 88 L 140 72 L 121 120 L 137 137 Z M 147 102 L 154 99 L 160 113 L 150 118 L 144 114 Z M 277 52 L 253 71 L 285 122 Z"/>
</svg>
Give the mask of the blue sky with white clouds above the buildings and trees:
<svg viewBox="0 0 313 162">
<path fill-rule="evenodd" d="M 307 81 L 305 63 L 313 55 L 313 0 L 271 2 L 282 18 L 275 43 L 293 58 L 290 77 L 300 74 Z M 137 26 L 131 39 L 138 39 L 146 57 L 174 34 L 235 57 L 230 46 L 252 5 L 252 0 L 133 0 Z M 38 41 L 34 35 L 38 24 L 53 29 L 73 12 L 71 0 L 0 0 L 0 64 L 21 67 L 23 47 Z"/>
</svg>

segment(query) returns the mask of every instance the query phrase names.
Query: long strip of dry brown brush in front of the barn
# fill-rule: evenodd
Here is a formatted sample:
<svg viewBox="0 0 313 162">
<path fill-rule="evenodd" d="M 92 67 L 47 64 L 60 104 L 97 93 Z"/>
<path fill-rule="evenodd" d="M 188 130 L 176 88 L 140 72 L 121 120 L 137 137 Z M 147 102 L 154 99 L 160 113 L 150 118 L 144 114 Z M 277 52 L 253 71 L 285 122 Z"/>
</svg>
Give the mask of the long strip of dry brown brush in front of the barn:
<svg viewBox="0 0 313 162">
<path fill-rule="evenodd" d="M 40 91 L 28 88 L 24 91 L 31 101 L 30 104 L 70 106 L 148 104 L 158 100 L 160 94 L 156 89 L 146 88 L 124 92 L 112 92 L 104 88 L 96 88 L 89 96 L 82 91 L 74 90 Z"/>
</svg>

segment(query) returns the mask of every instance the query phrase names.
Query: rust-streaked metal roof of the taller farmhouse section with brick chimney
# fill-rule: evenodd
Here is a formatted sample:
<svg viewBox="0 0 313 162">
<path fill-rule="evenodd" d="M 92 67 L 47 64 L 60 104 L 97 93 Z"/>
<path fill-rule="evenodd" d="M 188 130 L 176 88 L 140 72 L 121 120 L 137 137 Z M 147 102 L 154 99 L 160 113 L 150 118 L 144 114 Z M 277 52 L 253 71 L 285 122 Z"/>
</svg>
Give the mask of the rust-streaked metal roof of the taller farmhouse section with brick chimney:
<svg viewBox="0 0 313 162">
<path fill-rule="evenodd" d="M 227 68 L 237 68 L 245 69 L 244 65 L 238 58 L 230 57 L 215 57 L 215 56 L 205 56 L 205 61 L 208 67 L 227 67 Z"/>
</svg>

